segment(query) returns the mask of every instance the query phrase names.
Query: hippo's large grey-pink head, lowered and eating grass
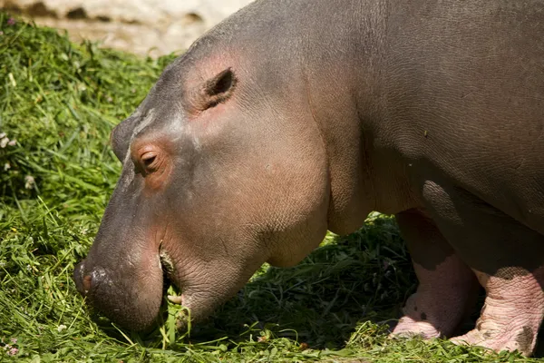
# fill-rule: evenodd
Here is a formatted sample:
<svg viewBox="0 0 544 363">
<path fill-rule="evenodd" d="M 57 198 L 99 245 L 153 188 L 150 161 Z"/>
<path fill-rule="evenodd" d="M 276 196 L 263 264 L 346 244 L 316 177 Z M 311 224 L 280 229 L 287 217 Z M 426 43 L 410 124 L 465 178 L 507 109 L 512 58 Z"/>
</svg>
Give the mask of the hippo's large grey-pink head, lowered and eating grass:
<svg viewBox="0 0 544 363">
<path fill-rule="evenodd" d="M 165 281 L 203 318 L 262 263 L 302 260 L 327 228 L 325 145 L 303 75 L 194 53 L 112 131 L 121 177 L 74 272 L 128 329 L 152 326 Z"/>
</svg>

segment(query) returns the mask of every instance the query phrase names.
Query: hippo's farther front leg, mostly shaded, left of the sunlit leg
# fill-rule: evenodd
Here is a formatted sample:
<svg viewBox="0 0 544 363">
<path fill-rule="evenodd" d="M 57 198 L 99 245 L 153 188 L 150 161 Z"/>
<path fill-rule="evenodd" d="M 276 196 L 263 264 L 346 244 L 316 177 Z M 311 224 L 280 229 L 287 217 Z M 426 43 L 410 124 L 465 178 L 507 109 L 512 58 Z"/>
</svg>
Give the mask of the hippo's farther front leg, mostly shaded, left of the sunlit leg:
<svg viewBox="0 0 544 363">
<path fill-rule="evenodd" d="M 406 301 L 404 316 L 392 335 L 451 336 L 475 303 L 478 282 L 423 211 L 403 211 L 396 220 L 410 250 L 419 286 Z"/>
</svg>

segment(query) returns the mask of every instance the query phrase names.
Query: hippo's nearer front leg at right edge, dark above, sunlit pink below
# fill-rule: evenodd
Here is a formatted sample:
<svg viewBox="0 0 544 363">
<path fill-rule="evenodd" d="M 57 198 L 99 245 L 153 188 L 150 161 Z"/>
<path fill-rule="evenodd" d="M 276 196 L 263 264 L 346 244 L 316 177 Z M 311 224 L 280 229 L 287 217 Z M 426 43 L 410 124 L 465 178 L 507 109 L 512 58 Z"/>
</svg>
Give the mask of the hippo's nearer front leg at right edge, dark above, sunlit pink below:
<svg viewBox="0 0 544 363">
<path fill-rule="evenodd" d="M 428 181 L 423 196 L 486 290 L 475 329 L 452 341 L 530 356 L 544 318 L 544 235 L 458 187 Z"/>
</svg>

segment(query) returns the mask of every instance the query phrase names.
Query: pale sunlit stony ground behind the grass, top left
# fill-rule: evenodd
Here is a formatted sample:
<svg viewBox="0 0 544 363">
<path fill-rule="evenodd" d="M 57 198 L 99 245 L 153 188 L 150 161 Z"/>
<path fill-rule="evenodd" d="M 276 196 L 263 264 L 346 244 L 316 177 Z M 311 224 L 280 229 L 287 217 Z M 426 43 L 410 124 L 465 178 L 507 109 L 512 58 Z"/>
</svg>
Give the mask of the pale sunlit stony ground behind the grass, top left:
<svg viewBox="0 0 544 363">
<path fill-rule="evenodd" d="M 38 25 L 66 29 L 73 41 L 141 55 L 179 52 L 252 0 L 0 0 Z"/>
</svg>

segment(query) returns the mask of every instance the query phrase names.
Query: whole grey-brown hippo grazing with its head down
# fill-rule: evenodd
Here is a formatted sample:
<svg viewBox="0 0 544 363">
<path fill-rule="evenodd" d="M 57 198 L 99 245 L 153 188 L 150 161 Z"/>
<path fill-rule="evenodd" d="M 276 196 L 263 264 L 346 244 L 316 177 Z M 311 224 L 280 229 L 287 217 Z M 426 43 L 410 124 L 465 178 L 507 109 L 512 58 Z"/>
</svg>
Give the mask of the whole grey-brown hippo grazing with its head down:
<svg viewBox="0 0 544 363">
<path fill-rule="evenodd" d="M 327 229 L 382 211 L 421 283 L 406 305 L 418 314 L 393 334 L 451 335 L 479 281 L 483 338 L 466 341 L 530 355 L 544 309 L 543 39 L 540 0 L 257 0 L 113 130 L 121 178 L 78 289 L 145 329 L 168 265 L 201 319 L 263 262 L 293 266 Z"/>
</svg>

